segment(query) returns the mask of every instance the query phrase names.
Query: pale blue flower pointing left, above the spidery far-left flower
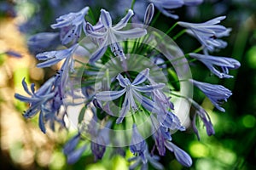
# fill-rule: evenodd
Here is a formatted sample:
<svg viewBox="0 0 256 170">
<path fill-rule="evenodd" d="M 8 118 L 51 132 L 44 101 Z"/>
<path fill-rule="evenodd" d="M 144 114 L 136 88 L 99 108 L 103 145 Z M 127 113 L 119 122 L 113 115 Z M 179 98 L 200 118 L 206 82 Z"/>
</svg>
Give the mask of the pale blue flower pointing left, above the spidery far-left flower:
<svg viewBox="0 0 256 170">
<path fill-rule="evenodd" d="M 36 58 L 39 60 L 46 60 L 43 63 L 39 63 L 39 68 L 49 67 L 60 62 L 62 59 L 72 58 L 74 51 L 79 47 L 79 44 L 73 45 L 71 48 L 61 49 L 59 51 L 49 51 L 41 54 L 37 54 Z"/>
</svg>

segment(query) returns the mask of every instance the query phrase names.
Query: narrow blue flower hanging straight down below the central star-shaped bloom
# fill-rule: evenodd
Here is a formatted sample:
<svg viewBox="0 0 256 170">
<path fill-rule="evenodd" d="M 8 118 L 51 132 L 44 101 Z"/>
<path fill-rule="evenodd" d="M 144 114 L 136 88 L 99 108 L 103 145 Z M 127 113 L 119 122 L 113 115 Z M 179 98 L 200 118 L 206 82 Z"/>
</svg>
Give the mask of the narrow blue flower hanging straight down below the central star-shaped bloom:
<svg viewBox="0 0 256 170">
<path fill-rule="evenodd" d="M 138 154 L 141 157 L 143 164 L 148 161 L 146 158 L 147 144 L 141 134 L 138 133 L 136 124 L 132 126 L 130 150 L 132 154 Z"/>
</svg>

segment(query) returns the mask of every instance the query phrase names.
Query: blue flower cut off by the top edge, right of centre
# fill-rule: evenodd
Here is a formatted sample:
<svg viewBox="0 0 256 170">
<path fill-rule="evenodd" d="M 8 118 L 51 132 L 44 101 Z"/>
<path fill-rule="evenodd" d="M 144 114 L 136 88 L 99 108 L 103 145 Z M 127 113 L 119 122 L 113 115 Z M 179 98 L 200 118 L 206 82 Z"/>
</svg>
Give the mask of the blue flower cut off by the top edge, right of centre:
<svg viewBox="0 0 256 170">
<path fill-rule="evenodd" d="M 172 14 L 173 8 L 180 8 L 183 6 L 183 0 L 148 0 L 150 3 L 154 3 L 154 6 L 160 10 L 162 14 L 173 19 L 178 19 L 176 14 Z"/>
</svg>

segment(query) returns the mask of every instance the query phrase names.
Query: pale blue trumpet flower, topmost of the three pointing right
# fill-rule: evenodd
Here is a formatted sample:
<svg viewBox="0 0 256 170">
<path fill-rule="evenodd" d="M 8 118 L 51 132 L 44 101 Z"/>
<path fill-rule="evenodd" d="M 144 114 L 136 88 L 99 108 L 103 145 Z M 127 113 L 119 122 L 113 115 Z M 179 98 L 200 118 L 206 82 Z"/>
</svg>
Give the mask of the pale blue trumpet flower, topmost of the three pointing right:
<svg viewBox="0 0 256 170">
<path fill-rule="evenodd" d="M 204 47 L 204 52 L 207 54 L 208 50 L 212 52 L 218 48 L 225 48 L 227 46 L 227 42 L 218 39 L 230 35 L 231 29 L 218 25 L 218 23 L 225 18 L 225 16 L 220 16 L 208 20 L 207 22 L 196 24 L 178 21 L 177 24 L 187 28 L 188 33 L 192 34 L 199 42 L 201 42 Z"/>
</svg>

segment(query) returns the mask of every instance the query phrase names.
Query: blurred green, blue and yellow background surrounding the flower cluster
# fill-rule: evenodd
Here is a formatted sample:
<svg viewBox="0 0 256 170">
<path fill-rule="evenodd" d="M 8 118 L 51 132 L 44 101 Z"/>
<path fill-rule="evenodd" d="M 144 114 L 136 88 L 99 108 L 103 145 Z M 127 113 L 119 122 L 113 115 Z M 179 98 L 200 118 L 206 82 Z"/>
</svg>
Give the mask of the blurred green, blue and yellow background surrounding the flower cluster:
<svg viewBox="0 0 256 170">
<path fill-rule="evenodd" d="M 131 2 L 125 1 L 126 7 Z M 135 14 L 145 8 L 140 1 L 135 3 Z M 90 5 L 95 16 L 99 9 L 106 8 L 113 16 L 123 16 L 125 5 L 120 1 L 86 0 L 7 0 L 0 1 L 0 125 L 1 125 L 1 169 L 127 169 L 124 158 L 113 156 L 111 160 L 94 162 L 90 151 L 85 151 L 81 160 L 67 165 L 61 148 L 72 132 L 60 130 L 41 133 L 38 118 L 25 120 L 22 111 L 27 105 L 14 98 L 15 93 L 24 94 L 21 86 L 23 77 L 28 83 L 39 87 L 55 69 L 38 69 L 35 51 L 29 50 L 27 39 L 33 34 L 53 31 L 50 24 L 61 14 L 78 11 Z M 112 13 L 113 11 L 113 13 Z M 241 68 L 230 71 L 233 79 L 219 80 L 204 71 L 204 65 L 196 69 L 191 66 L 193 77 L 205 82 L 219 83 L 230 88 L 233 95 L 224 105 L 225 113 L 212 110 L 203 95 L 195 91 L 195 99 L 207 108 L 216 134 L 208 137 L 201 127 L 201 141 L 193 133 L 175 133 L 174 141 L 193 158 L 193 166 L 182 167 L 172 154 L 163 157 L 166 169 L 256 169 L 256 1 L 255 0 L 205 0 L 198 7 L 183 7 L 175 10 L 180 20 L 202 22 L 220 15 L 227 18 L 222 25 L 231 27 L 230 37 L 225 37 L 228 47 L 214 53 L 233 57 L 241 62 Z M 170 20 L 167 21 L 166 20 Z M 175 20 L 160 15 L 154 25 L 166 31 Z M 178 30 L 177 30 L 178 31 Z M 172 32 L 174 35 L 176 32 Z M 187 36 L 177 39 L 184 53 L 199 44 Z M 169 156 L 170 155 L 170 156 Z"/>
</svg>

